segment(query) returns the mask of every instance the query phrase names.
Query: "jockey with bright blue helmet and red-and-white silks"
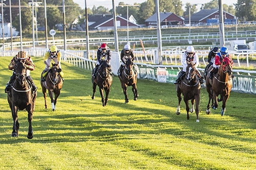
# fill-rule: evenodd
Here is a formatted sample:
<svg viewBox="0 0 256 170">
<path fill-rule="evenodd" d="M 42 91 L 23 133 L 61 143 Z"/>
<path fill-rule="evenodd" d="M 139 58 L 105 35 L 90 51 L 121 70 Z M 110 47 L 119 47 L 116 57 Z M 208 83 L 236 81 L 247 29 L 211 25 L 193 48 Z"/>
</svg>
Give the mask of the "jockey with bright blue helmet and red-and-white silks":
<svg viewBox="0 0 256 170">
<path fill-rule="evenodd" d="M 219 67 L 221 65 L 222 60 L 228 57 L 229 60 L 231 61 L 231 65 L 233 66 L 233 61 L 231 56 L 228 54 L 228 50 L 227 47 L 223 46 L 221 47 L 221 50 L 219 53 L 217 53 L 216 57 L 215 57 L 215 61 L 214 64 L 212 64 L 213 68 L 209 71 L 209 79 L 212 80 L 212 78 L 214 77 L 214 75 L 218 72 Z"/>
</svg>

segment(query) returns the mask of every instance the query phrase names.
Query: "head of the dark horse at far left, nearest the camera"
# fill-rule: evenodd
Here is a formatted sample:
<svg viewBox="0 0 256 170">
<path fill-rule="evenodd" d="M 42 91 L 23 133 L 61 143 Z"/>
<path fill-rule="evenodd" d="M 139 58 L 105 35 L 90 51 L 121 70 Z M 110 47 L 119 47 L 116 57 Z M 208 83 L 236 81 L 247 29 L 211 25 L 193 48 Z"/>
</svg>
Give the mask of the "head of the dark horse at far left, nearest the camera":
<svg viewBox="0 0 256 170">
<path fill-rule="evenodd" d="M 22 59 L 14 60 L 14 72 L 16 75 L 16 79 L 20 85 L 24 85 L 26 83 L 26 64 Z"/>
</svg>

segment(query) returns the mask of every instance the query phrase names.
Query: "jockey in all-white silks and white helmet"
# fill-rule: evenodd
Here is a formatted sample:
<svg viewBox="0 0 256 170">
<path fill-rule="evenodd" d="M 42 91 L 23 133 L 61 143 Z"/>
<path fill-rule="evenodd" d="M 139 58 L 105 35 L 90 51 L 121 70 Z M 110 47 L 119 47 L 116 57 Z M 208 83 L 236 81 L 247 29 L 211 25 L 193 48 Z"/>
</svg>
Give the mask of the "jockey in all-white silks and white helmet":
<svg viewBox="0 0 256 170">
<path fill-rule="evenodd" d="M 192 62 L 195 65 L 197 76 L 199 78 L 200 83 L 205 83 L 203 77 L 200 74 L 200 71 L 197 70 L 197 66 L 199 65 L 199 58 L 193 46 L 187 46 L 185 53 L 182 55 L 183 69 L 179 72 L 177 80 L 174 84 L 179 84 L 182 77 L 186 74 L 187 62 Z"/>
</svg>

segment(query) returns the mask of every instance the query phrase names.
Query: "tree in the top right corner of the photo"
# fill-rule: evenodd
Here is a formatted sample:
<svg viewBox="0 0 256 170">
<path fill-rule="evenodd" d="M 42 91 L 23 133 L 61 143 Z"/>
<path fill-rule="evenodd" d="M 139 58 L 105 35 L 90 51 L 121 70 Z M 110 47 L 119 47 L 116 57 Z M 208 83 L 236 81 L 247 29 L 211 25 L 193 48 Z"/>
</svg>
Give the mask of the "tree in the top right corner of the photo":
<svg viewBox="0 0 256 170">
<path fill-rule="evenodd" d="M 239 20 L 255 20 L 256 19 L 256 0 L 238 0 L 237 4 L 234 4 L 236 9 L 236 16 Z"/>
</svg>

